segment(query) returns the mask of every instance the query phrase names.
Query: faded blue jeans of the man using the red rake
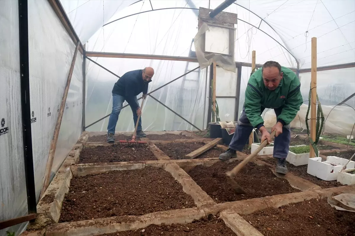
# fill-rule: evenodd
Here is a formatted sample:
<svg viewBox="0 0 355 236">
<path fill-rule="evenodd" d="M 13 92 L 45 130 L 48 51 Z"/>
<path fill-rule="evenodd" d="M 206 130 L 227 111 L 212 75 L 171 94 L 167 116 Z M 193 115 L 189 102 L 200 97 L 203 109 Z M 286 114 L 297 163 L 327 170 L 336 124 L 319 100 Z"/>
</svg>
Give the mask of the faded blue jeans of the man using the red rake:
<svg viewBox="0 0 355 236">
<path fill-rule="evenodd" d="M 112 112 L 110 114 L 109 124 L 107 126 L 107 133 L 113 133 L 113 134 L 115 133 L 118 116 L 120 115 L 124 102 L 125 102 L 124 97 L 118 94 L 114 94 L 114 93 L 112 94 Z M 135 97 L 135 102 L 137 105 L 139 105 L 137 97 Z M 132 104 L 129 105 L 133 113 L 134 126 L 136 126 L 137 119 L 138 119 L 137 110 L 134 107 L 132 107 Z M 137 127 L 137 131 L 140 130 L 142 130 L 142 117 L 139 118 L 138 127 Z"/>
</svg>

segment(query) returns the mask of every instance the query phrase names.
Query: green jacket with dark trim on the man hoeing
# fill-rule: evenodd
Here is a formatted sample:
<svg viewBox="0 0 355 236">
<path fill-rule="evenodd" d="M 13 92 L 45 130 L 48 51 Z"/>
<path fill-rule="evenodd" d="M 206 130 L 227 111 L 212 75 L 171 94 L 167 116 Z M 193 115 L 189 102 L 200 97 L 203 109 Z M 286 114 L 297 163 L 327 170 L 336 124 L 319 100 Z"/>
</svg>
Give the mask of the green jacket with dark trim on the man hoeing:
<svg viewBox="0 0 355 236">
<path fill-rule="evenodd" d="M 244 107 L 245 114 L 253 127 L 260 129 L 264 124 L 261 107 L 272 109 L 282 107 L 277 121 L 283 125 L 289 125 L 300 110 L 303 103 L 300 80 L 289 68 L 281 67 L 281 71 L 283 79 L 274 91 L 265 87 L 261 68 L 250 76 L 245 91 Z"/>
</svg>

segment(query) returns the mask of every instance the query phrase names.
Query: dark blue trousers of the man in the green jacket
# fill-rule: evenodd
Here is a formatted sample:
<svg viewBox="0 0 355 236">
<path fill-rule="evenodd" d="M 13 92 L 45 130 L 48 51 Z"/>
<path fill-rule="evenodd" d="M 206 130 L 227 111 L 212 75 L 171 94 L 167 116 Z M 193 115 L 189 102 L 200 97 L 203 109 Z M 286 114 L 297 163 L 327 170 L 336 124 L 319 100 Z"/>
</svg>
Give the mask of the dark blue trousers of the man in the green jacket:
<svg viewBox="0 0 355 236">
<path fill-rule="evenodd" d="M 265 108 L 261 107 L 261 113 L 264 111 L 264 109 Z M 274 109 L 274 111 L 277 117 L 281 114 L 282 108 Z M 245 114 L 245 108 L 243 106 L 243 111 L 241 116 L 239 117 L 238 125 L 235 128 L 235 133 L 229 144 L 229 148 L 236 151 L 242 151 L 244 146 L 249 140 L 249 136 L 252 130 L 253 130 L 253 126 L 250 124 Z M 282 134 L 275 137 L 273 156 L 280 159 L 285 159 L 289 152 L 290 140 L 291 140 L 290 125 L 283 126 Z"/>
</svg>

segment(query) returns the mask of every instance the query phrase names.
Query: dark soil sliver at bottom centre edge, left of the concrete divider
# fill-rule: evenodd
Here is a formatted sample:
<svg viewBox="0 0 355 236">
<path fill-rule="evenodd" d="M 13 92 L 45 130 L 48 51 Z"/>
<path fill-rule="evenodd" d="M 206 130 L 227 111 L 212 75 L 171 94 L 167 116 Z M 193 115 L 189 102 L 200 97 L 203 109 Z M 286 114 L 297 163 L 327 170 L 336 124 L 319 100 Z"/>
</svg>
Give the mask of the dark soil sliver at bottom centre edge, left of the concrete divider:
<svg viewBox="0 0 355 236">
<path fill-rule="evenodd" d="M 142 232 L 143 231 L 143 232 Z M 98 236 L 235 236 L 222 219 L 209 215 L 190 224 L 149 225 L 134 231 L 122 231 Z"/>
</svg>

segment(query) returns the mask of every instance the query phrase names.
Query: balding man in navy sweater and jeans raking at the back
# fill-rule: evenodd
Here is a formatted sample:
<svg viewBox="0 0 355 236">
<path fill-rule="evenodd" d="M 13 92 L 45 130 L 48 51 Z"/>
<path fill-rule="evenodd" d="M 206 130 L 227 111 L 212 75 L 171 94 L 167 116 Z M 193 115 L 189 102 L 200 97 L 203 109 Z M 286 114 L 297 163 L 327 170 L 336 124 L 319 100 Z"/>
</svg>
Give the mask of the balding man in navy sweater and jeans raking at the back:
<svg viewBox="0 0 355 236">
<path fill-rule="evenodd" d="M 109 123 L 107 126 L 107 142 L 114 143 L 115 128 L 118 121 L 118 116 L 126 100 L 130 105 L 133 113 L 133 121 L 136 126 L 138 115 L 141 114 L 137 95 L 143 93 L 143 97 L 147 97 L 148 83 L 152 82 L 154 69 L 146 67 L 143 70 L 132 70 L 124 75 L 115 83 L 112 89 L 112 112 L 110 114 Z M 137 127 L 137 136 L 146 137 L 142 131 L 142 119 L 139 119 Z"/>
</svg>

